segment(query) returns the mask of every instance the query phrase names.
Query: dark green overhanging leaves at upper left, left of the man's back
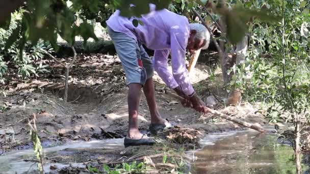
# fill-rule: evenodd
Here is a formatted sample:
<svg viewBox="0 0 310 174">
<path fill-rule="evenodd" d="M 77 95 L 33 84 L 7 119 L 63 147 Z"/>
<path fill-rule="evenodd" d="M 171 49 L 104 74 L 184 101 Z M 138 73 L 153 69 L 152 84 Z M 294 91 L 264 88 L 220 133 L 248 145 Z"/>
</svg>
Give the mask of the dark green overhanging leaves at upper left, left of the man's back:
<svg viewBox="0 0 310 174">
<path fill-rule="evenodd" d="M 79 3 L 79 1 L 74 2 Z M 58 35 L 71 45 L 75 41 L 75 36 L 82 36 L 85 41 L 89 38 L 97 40 L 93 25 L 87 23 L 86 20 L 79 26 L 76 25 L 76 13 L 80 9 L 68 6 L 67 3 L 62 0 L 33 0 L 24 3 L 20 8 L 22 20 L 13 31 L 6 48 L 9 48 L 19 35 L 22 37 L 19 41 L 19 48 L 23 48 L 26 41 L 31 41 L 32 45 L 35 45 L 39 39 L 49 41 L 54 48 L 57 48 Z M 3 27 L 9 23 L 6 22 Z"/>
</svg>

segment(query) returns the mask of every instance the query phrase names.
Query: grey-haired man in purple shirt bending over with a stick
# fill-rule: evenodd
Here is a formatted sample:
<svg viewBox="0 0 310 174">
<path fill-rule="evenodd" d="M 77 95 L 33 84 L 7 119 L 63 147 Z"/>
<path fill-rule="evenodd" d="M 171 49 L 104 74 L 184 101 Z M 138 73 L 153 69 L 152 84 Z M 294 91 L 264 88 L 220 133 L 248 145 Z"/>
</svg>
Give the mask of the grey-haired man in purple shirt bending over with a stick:
<svg viewBox="0 0 310 174">
<path fill-rule="evenodd" d="M 183 103 L 185 106 L 205 111 L 205 104 L 190 83 L 185 65 L 185 53 L 187 49 L 194 53 L 200 48 L 208 48 L 210 33 L 201 24 L 189 24 L 184 16 L 167 9 L 155 10 L 156 6 L 150 5 L 150 12 L 137 18 L 143 22 L 137 27 L 132 23 L 134 18 L 119 16 L 119 11 L 107 21 L 108 33 L 114 42 L 129 87 L 127 98 L 129 126 L 124 139 L 125 147 L 151 145 L 155 142 L 139 132 L 138 106 L 141 88 L 150 110 L 150 132 L 156 134 L 163 128 L 171 127 L 157 109 L 152 80 L 153 70 L 157 71 L 169 88 L 186 99 Z M 142 44 L 154 50 L 153 61 Z M 169 52 L 171 52 L 172 72 L 168 70 Z"/>
</svg>

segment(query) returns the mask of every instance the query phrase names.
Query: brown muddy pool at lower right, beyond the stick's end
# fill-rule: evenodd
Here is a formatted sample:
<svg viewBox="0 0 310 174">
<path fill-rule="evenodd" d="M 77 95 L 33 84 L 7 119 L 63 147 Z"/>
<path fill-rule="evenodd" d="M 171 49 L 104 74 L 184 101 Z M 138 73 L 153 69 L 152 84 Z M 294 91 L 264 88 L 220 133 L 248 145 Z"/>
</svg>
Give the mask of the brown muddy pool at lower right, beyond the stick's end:
<svg viewBox="0 0 310 174">
<path fill-rule="evenodd" d="M 254 131 L 206 136 L 193 173 L 296 173 L 292 148 L 276 140 L 274 134 Z"/>
</svg>

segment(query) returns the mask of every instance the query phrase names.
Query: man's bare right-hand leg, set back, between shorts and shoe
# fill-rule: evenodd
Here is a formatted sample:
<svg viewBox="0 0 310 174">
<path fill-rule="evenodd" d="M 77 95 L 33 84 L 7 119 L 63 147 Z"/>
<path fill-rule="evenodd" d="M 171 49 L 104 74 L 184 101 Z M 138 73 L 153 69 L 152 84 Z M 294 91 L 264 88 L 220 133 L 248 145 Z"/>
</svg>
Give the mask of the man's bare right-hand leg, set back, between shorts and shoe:
<svg viewBox="0 0 310 174">
<path fill-rule="evenodd" d="M 151 123 L 154 124 L 165 124 L 165 120 L 161 117 L 155 99 L 155 90 L 153 79 L 149 78 L 146 80 L 143 86 L 143 92 L 146 97 L 147 105 L 151 114 Z"/>
</svg>

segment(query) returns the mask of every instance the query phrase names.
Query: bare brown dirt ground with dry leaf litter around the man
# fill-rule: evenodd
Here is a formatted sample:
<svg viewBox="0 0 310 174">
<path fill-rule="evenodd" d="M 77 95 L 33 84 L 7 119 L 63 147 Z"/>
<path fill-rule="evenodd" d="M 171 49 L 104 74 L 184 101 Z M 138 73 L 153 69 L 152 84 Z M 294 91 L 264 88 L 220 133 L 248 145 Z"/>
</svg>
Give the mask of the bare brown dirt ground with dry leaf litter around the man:
<svg viewBox="0 0 310 174">
<path fill-rule="evenodd" d="M 90 141 L 126 136 L 127 88 L 118 57 L 104 54 L 79 54 L 70 72 L 67 103 L 63 101 L 64 70 L 53 61 L 48 63 L 51 72 L 45 76 L 33 77 L 26 81 L 10 76 L 9 83 L 4 86 L 6 97 L 0 98 L 0 120 L 2 121 L 0 122 L 2 149 L 0 153 L 32 147 L 27 123 L 33 114 L 37 117 L 37 128 L 43 148 L 72 140 Z M 197 65 L 190 77 L 197 93 L 207 104 L 231 117 L 261 125 L 267 124 L 263 115 L 256 112 L 257 108 L 248 103 L 237 107 L 225 107 L 223 101 L 226 93 L 222 87 L 220 74 L 217 75 L 218 82 L 211 82 L 208 79 L 209 71 L 206 70 L 210 68 Z M 211 114 L 202 115 L 191 108 L 184 108 L 163 93 L 165 84 L 157 74 L 153 79 L 156 83 L 154 87 L 158 109 L 162 117 L 177 124 L 176 128 L 164 134 L 164 138 L 176 142 L 173 146 L 187 144 L 186 148 L 197 148 L 199 138 L 205 134 L 244 129 L 231 122 L 215 118 Z M 210 96 L 214 96 L 211 97 L 213 99 L 211 101 Z M 141 92 L 140 130 L 147 132 L 149 124 L 148 106 Z M 158 146 L 157 149 L 160 150 L 163 147 Z M 120 155 L 123 151 L 124 149 L 97 153 L 106 160 L 96 162 L 99 165 L 109 160 L 115 161 L 123 156 Z M 144 156 L 153 153 L 153 149 L 150 150 L 149 147 L 130 147 L 125 151 L 129 153 L 126 154 L 127 156 L 135 156 L 137 152 L 143 152 Z M 91 158 L 86 155 L 80 162 L 96 157 L 98 156 Z M 138 157 L 132 159 L 138 159 Z"/>
</svg>

